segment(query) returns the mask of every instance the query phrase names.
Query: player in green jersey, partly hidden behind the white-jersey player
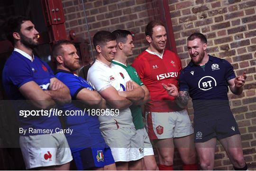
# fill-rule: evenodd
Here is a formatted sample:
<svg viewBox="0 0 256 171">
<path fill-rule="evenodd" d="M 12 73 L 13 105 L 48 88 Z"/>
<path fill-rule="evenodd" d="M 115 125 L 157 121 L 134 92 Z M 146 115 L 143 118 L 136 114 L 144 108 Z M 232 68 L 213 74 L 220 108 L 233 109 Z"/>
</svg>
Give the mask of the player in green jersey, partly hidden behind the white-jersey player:
<svg viewBox="0 0 256 171">
<path fill-rule="evenodd" d="M 143 159 L 143 168 L 147 171 L 158 170 L 154 151 L 152 144 L 150 143 L 149 137 L 147 135 L 145 124 L 142 119 L 142 110 L 140 105 L 144 105 L 149 100 L 149 92 L 146 86 L 140 81 L 136 70 L 127 63 L 128 56 L 133 54 L 132 50 L 134 48 L 132 34 L 128 30 L 115 30 L 112 32 L 117 37 L 117 53 L 115 54 L 115 59 L 112 60 L 112 63 L 117 64 L 123 67 L 138 85 L 143 88 L 145 91 L 145 97 L 139 104 L 134 104 L 130 106 L 132 113 L 133 123 L 137 130 L 137 133 L 141 135 L 144 140 L 144 159 Z"/>
</svg>

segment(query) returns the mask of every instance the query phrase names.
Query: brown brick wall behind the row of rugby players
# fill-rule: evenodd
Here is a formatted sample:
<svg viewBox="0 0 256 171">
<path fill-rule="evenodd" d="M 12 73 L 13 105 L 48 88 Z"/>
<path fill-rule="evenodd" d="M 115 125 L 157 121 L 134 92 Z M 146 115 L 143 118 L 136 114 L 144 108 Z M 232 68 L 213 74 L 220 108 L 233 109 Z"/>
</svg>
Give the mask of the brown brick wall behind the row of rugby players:
<svg viewBox="0 0 256 171">
<path fill-rule="evenodd" d="M 66 29 L 76 31 L 77 39 L 88 43 L 81 0 L 62 0 Z M 136 34 L 134 55 L 146 48 L 144 30 L 157 18 L 154 0 L 84 0 L 91 37 L 99 30 L 128 29 Z M 208 38 L 208 53 L 228 60 L 236 74 L 247 72 L 240 96 L 229 92 L 230 106 L 238 122 L 246 162 L 256 170 L 256 1 L 255 0 L 168 0 L 174 37 L 183 67 L 189 61 L 186 38 L 195 31 Z M 192 103 L 189 113 L 193 118 Z M 174 164 L 180 165 L 175 153 Z M 177 167 L 180 169 L 180 167 Z M 215 155 L 216 170 L 232 170 L 220 144 Z"/>
</svg>

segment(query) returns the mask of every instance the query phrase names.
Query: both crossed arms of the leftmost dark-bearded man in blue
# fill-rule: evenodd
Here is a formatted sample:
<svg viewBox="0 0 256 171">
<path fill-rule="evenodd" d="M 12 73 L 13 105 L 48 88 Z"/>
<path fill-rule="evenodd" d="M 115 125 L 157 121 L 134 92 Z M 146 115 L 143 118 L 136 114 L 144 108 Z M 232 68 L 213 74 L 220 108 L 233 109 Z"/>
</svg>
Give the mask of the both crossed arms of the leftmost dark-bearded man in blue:
<svg viewBox="0 0 256 171">
<path fill-rule="evenodd" d="M 57 103 L 71 101 L 69 89 L 58 79 L 50 80 L 49 90 L 42 90 L 35 81 L 29 81 L 19 88 L 20 93 L 38 108 L 46 109 Z"/>
</svg>

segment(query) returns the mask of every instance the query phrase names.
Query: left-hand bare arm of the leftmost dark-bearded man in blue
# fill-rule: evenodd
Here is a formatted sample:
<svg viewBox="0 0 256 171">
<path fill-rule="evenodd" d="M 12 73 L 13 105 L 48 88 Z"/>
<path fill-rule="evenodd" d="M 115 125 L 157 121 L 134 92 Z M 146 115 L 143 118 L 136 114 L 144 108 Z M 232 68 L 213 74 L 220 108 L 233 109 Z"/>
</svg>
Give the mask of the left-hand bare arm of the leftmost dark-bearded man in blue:
<svg viewBox="0 0 256 171">
<path fill-rule="evenodd" d="M 55 106 L 52 97 L 42 90 L 34 81 L 29 81 L 19 88 L 20 93 L 37 108 L 46 109 Z"/>
</svg>

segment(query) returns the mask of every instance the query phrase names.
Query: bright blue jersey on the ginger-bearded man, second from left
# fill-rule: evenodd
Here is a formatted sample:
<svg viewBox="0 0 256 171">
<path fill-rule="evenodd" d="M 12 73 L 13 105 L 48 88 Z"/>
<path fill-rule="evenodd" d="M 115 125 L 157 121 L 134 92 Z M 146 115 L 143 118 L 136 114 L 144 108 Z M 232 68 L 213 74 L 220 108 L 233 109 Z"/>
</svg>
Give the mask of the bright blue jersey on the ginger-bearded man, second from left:
<svg viewBox="0 0 256 171">
<path fill-rule="evenodd" d="M 72 102 L 61 108 L 68 112 L 81 111 L 83 113 L 85 107 L 82 102 L 75 100 L 76 96 L 84 88 L 91 91 L 93 88 L 82 77 L 74 75 L 72 72 L 57 70 L 55 76 L 69 88 L 72 97 Z M 66 134 L 72 153 L 95 144 L 104 143 L 97 116 L 91 116 L 85 112 L 84 116 L 65 116 L 64 122 L 66 128 L 73 129 L 72 135 Z"/>
</svg>

